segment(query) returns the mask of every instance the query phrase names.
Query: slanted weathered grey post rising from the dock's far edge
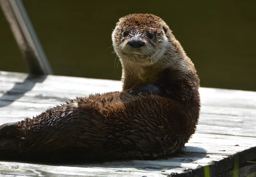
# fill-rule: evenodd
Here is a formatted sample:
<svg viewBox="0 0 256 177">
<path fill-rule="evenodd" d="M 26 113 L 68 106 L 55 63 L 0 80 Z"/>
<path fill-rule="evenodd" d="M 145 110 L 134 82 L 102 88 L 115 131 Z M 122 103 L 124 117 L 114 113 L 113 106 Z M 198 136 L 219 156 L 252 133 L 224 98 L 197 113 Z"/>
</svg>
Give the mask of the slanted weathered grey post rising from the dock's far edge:
<svg viewBox="0 0 256 177">
<path fill-rule="evenodd" d="M 23 58 L 32 74 L 53 74 L 44 50 L 21 0 L 0 0 Z"/>
</svg>

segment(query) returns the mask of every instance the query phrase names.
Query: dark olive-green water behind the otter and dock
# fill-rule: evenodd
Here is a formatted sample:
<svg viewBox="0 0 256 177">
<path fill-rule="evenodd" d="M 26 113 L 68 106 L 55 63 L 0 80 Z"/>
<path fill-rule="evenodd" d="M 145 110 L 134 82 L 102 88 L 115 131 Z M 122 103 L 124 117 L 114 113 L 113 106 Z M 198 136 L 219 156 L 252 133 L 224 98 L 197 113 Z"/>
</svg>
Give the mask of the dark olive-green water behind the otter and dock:
<svg viewBox="0 0 256 177">
<path fill-rule="evenodd" d="M 256 1 L 23 0 L 56 75 L 119 80 L 111 32 L 131 13 L 160 16 L 203 87 L 256 90 Z M 117 59 L 116 64 L 117 65 Z M 0 11 L 0 70 L 28 72 Z"/>
</svg>

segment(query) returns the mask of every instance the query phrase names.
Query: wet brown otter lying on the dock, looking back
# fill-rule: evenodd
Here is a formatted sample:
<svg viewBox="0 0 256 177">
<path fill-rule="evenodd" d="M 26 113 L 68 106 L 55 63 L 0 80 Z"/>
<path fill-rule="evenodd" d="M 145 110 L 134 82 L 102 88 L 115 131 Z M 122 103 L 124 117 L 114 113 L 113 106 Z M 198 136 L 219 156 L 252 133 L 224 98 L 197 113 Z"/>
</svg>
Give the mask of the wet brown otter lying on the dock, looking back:
<svg viewBox="0 0 256 177">
<path fill-rule="evenodd" d="M 153 14 L 119 19 L 112 33 L 122 91 L 78 97 L 0 126 L 0 159 L 155 159 L 195 132 L 199 79 L 169 26 Z"/>
</svg>

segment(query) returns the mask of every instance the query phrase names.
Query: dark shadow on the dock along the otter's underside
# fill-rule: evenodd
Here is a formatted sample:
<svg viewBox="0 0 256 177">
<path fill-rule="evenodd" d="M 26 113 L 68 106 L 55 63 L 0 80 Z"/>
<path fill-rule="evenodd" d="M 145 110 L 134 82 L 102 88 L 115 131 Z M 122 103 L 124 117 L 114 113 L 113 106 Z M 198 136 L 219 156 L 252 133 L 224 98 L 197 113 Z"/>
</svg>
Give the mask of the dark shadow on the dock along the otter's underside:
<svg viewBox="0 0 256 177">
<path fill-rule="evenodd" d="M 187 146 L 190 149 L 190 146 Z M 207 156 L 206 150 L 201 147 L 192 147 L 194 152 L 180 152 L 169 157 L 159 158 L 157 160 L 64 160 L 58 162 L 39 162 L 39 161 L 16 161 L 19 163 L 31 163 L 37 165 L 50 165 L 50 166 L 74 166 L 83 168 L 111 168 L 111 169 L 127 169 L 134 168 L 143 171 L 163 171 L 170 169 L 177 169 L 177 167 L 194 168 L 198 165 L 198 161 L 204 163 L 204 158 Z M 199 153 L 198 153 L 199 152 Z M 210 157 L 209 157 L 210 158 Z M 197 161 L 197 162 L 196 162 Z M 6 161 L 7 162 L 7 161 Z M 12 161 L 13 162 L 13 161 Z M 184 170 L 180 168 L 180 170 Z"/>
</svg>

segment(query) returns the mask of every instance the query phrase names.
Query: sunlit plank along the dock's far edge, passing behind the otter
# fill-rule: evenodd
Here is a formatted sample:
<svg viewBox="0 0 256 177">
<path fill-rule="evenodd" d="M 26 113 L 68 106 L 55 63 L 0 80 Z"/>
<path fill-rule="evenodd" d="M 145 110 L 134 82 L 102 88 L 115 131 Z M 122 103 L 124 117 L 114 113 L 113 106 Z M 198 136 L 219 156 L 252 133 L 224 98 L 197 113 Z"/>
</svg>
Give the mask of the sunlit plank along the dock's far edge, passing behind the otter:
<svg viewBox="0 0 256 177">
<path fill-rule="evenodd" d="M 15 85 L 15 90 L 33 90 L 40 92 L 61 92 L 86 95 L 90 93 L 104 93 L 121 90 L 121 82 L 104 79 L 87 79 L 67 76 L 37 76 L 27 78 L 24 73 L 10 73 L 0 71 L 0 91 L 9 91 Z M 26 87 L 25 87 L 26 85 Z M 50 86 L 50 87 L 49 87 Z M 96 90 L 95 90 L 96 88 Z M 86 92 L 86 93 L 85 93 Z M 220 107 L 256 108 L 256 93 L 252 91 L 200 88 L 203 105 Z"/>
</svg>

